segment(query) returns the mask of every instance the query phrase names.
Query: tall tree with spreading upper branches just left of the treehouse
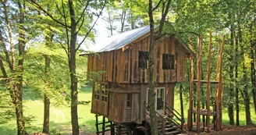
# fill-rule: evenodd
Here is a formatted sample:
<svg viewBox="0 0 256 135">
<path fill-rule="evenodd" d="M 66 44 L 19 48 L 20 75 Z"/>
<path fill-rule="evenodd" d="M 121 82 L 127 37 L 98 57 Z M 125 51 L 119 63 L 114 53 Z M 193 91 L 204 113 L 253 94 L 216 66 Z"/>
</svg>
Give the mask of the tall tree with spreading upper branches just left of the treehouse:
<svg viewBox="0 0 256 135">
<path fill-rule="evenodd" d="M 34 0 L 30 2 L 35 6 L 36 9 L 39 9 L 41 12 L 44 12 L 44 15 L 49 16 L 56 23 L 59 23 L 59 26 L 62 26 L 65 29 L 66 43 L 59 41 L 59 44 L 62 45 L 62 48 L 65 49 L 66 55 L 69 59 L 69 75 L 70 75 L 70 88 L 71 88 L 71 123 L 72 130 L 74 135 L 79 134 L 79 125 L 78 125 L 78 115 L 77 115 L 77 76 L 76 76 L 76 52 L 80 48 L 80 45 L 91 36 L 91 30 L 93 29 L 95 23 L 98 21 L 99 16 L 101 15 L 102 10 L 105 8 L 106 1 L 91 1 L 87 0 L 85 2 L 75 2 L 73 0 L 68 0 L 67 2 L 61 2 L 61 4 L 56 3 L 59 14 L 62 16 L 62 20 L 57 20 L 54 14 L 48 12 L 42 5 L 37 3 Z M 59 6 L 60 5 L 60 6 Z M 96 12 L 88 8 L 96 9 Z M 82 10 L 81 10 L 82 9 Z M 99 9 L 100 11 L 98 11 Z M 68 12 L 67 12 L 68 11 Z M 98 13 L 99 12 L 99 13 Z M 96 16 L 96 20 L 92 23 L 91 27 L 89 26 L 90 20 L 93 16 Z M 88 22 L 87 22 L 88 21 Z M 85 30 L 83 30 L 85 29 Z M 81 32 L 85 34 L 81 34 Z M 84 35 L 83 40 L 76 46 L 77 36 Z M 64 44 L 67 44 L 64 46 Z"/>
</svg>

